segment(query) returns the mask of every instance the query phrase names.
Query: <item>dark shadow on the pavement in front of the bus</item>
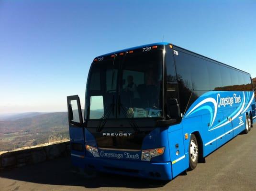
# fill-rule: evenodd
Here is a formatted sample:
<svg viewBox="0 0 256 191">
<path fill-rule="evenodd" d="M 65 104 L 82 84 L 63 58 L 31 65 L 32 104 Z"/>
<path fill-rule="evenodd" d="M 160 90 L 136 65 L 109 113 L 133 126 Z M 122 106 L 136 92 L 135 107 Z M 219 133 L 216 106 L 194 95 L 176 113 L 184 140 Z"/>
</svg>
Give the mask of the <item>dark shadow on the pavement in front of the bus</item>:
<svg viewBox="0 0 256 191">
<path fill-rule="evenodd" d="M 17 169 L 3 170 L 0 172 L 0 177 L 40 184 L 84 186 L 85 188 L 156 188 L 168 183 L 168 181 L 146 180 L 105 173 L 99 173 L 93 179 L 86 179 L 71 171 L 71 160 L 70 157 L 67 157 Z"/>
</svg>

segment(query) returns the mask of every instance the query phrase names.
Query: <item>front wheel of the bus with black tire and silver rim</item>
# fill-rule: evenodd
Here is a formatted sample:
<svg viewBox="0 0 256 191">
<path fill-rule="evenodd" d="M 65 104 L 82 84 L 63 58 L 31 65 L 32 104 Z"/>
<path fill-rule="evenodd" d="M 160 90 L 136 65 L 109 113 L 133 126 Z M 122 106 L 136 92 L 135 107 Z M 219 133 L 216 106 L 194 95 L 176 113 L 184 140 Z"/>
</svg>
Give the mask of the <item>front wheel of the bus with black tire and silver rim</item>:
<svg viewBox="0 0 256 191">
<path fill-rule="evenodd" d="M 197 167 L 198 159 L 199 149 L 197 138 L 194 134 L 191 134 L 189 140 L 189 170 L 194 170 Z"/>
</svg>

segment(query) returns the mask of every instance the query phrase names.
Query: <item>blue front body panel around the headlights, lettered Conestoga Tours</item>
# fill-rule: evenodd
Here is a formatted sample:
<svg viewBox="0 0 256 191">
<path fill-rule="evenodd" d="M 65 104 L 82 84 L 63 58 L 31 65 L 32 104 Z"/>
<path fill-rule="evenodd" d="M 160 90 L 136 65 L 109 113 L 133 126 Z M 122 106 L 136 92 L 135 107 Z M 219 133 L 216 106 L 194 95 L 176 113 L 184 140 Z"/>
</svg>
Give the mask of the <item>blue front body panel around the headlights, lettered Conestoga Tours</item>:
<svg viewBox="0 0 256 191">
<path fill-rule="evenodd" d="M 156 127 L 144 138 L 141 150 L 165 147 L 164 154 L 151 159 L 150 162 L 141 161 L 141 150 L 125 151 L 98 148 L 100 157 L 93 157 L 91 153 L 86 151 L 86 157 L 83 163 L 86 165 L 85 167 L 87 170 L 98 170 L 102 172 L 140 176 L 157 180 L 171 180 L 172 165 L 170 163 L 170 149 L 167 131 L 168 128 Z M 85 135 L 86 144 L 97 147 L 95 138 L 88 130 L 85 130 Z M 181 147 L 184 150 L 183 144 L 181 144 Z M 136 156 L 136 159 L 127 159 L 127 153 Z M 114 157 L 112 157 L 113 154 Z M 182 167 L 182 169 L 184 169 L 184 167 Z"/>
</svg>

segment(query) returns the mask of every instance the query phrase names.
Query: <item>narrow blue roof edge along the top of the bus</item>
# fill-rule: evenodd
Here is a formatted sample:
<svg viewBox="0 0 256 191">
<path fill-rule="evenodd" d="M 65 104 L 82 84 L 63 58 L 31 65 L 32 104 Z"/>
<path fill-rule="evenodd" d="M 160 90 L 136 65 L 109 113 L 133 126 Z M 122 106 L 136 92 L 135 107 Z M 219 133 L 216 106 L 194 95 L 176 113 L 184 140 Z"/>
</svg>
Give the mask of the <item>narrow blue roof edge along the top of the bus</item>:
<svg viewBox="0 0 256 191">
<path fill-rule="evenodd" d="M 187 49 L 185 49 L 185 48 L 176 46 L 175 44 L 172 44 L 172 43 L 169 43 L 169 42 L 156 42 L 156 43 L 151 43 L 151 44 L 144 44 L 144 45 L 141 45 L 141 46 L 135 46 L 135 47 L 126 48 L 126 49 L 122 49 L 122 50 L 115 51 L 115 52 L 111 52 L 111 53 L 106 53 L 106 54 L 97 56 L 97 57 L 95 57 L 95 58 L 104 57 L 104 56 L 109 56 L 109 55 L 112 55 L 112 54 L 115 54 L 115 53 L 122 53 L 122 52 L 130 51 L 130 50 L 134 50 L 134 49 L 139 49 L 139 48 L 143 48 L 143 47 L 147 47 L 147 46 L 168 45 L 168 44 L 171 44 L 171 45 L 173 45 L 174 47 L 177 47 L 177 48 L 179 48 L 179 49 L 185 50 L 185 51 L 187 51 L 187 52 L 189 52 L 189 53 L 197 54 L 197 55 L 202 56 L 202 57 L 204 57 L 204 58 L 210 59 L 211 61 L 217 62 L 217 63 L 219 63 L 219 64 L 223 64 L 224 66 L 228 66 L 228 67 L 234 68 L 234 69 L 236 69 L 236 70 L 239 70 L 239 71 L 241 71 L 241 72 L 244 72 L 244 73 L 246 73 L 246 74 L 249 74 L 249 73 L 247 73 L 247 72 L 245 72 L 245 71 L 243 71 L 243 70 L 240 70 L 240 69 L 238 69 L 238 68 L 235 68 L 235 67 L 233 67 L 233 66 L 231 66 L 231 65 L 224 64 L 224 63 L 222 63 L 222 62 L 219 62 L 219 61 L 214 60 L 214 59 L 212 59 L 212 58 L 206 57 L 206 56 L 201 55 L 201 54 L 199 54 L 199 53 L 195 53 L 195 52 L 189 51 L 189 50 L 187 50 Z M 250 75 L 250 74 L 249 74 L 249 75 Z"/>
</svg>

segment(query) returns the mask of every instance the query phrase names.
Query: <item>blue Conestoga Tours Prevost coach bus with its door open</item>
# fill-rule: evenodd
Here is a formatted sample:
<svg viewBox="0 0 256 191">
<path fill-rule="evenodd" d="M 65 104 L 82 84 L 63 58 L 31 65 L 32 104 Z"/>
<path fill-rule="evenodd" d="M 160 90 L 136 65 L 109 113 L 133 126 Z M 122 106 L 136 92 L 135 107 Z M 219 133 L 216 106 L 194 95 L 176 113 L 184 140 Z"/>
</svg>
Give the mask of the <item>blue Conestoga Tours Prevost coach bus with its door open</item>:
<svg viewBox="0 0 256 191">
<path fill-rule="evenodd" d="M 250 74 L 166 42 L 96 57 L 84 118 L 67 97 L 72 164 L 171 180 L 256 120 Z"/>
</svg>

